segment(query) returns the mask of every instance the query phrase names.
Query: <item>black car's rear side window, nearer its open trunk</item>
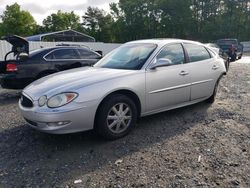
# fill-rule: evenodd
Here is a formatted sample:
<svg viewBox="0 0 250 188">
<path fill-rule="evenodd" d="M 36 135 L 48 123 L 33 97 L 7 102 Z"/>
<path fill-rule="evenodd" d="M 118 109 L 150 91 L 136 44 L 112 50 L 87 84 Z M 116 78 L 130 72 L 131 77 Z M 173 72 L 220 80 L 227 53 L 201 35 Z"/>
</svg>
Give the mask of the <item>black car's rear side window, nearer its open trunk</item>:
<svg viewBox="0 0 250 188">
<path fill-rule="evenodd" d="M 56 50 L 49 54 L 48 57 L 53 57 L 53 59 L 79 59 L 79 56 L 77 55 L 74 49 Z"/>
</svg>

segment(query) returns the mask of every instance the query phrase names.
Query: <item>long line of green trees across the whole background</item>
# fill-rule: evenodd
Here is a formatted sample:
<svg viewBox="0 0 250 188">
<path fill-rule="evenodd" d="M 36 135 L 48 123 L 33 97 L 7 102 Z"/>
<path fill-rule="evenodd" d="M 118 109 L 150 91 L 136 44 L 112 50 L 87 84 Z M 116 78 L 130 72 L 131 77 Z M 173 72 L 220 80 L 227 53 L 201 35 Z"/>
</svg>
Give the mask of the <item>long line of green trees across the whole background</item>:
<svg viewBox="0 0 250 188">
<path fill-rule="evenodd" d="M 74 29 L 102 42 L 182 38 L 202 42 L 250 39 L 250 0 L 119 0 L 110 12 L 88 7 L 82 17 L 58 10 L 37 25 L 17 3 L 1 15 L 0 36 Z"/>
</svg>

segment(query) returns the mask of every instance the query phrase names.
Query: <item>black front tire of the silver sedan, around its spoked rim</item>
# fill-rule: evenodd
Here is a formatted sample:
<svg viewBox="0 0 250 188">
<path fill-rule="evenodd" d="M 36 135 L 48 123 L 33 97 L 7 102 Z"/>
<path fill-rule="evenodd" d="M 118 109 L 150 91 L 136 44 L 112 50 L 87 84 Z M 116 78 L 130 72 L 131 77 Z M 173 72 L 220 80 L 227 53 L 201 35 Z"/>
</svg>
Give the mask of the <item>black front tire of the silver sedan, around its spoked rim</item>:
<svg viewBox="0 0 250 188">
<path fill-rule="evenodd" d="M 123 106 L 124 108 L 120 111 L 121 106 Z M 113 109 L 115 108 L 117 110 L 117 107 L 119 107 L 119 113 L 120 112 L 125 113 L 128 107 L 129 111 L 128 113 L 124 114 L 123 117 L 124 118 L 131 117 L 131 118 L 122 119 L 122 117 L 114 113 Z M 127 114 L 129 115 L 126 116 Z M 113 118 L 116 117 L 117 119 L 116 120 L 108 119 L 110 117 Z M 115 125 L 113 125 L 113 127 L 111 127 L 112 123 L 114 123 L 115 121 L 117 121 L 118 123 L 116 123 Z M 127 135 L 135 126 L 136 121 L 137 121 L 137 108 L 133 100 L 131 100 L 129 97 L 125 95 L 115 94 L 105 99 L 102 102 L 101 106 L 98 108 L 95 119 L 95 131 L 105 139 L 115 140 Z M 124 130 L 120 130 L 121 132 L 115 132 L 116 130 L 113 129 L 118 129 L 118 127 Z"/>
</svg>

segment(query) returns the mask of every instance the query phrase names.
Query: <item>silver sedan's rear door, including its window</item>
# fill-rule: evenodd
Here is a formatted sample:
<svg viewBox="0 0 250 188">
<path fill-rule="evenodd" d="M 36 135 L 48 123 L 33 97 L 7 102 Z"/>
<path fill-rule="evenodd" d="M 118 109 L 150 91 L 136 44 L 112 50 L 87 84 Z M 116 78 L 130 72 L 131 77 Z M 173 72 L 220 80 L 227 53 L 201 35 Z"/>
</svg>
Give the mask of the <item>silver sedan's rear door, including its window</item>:
<svg viewBox="0 0 250 188">
<path fill-rule="evenodd" d="M 208 50 L 198 44 L 184 43 L 188 55 L 191 74 L 191 100 L 198 100 L 212 95 L 215 86 L 213 75 L 214 58 Z"/>
</svg>

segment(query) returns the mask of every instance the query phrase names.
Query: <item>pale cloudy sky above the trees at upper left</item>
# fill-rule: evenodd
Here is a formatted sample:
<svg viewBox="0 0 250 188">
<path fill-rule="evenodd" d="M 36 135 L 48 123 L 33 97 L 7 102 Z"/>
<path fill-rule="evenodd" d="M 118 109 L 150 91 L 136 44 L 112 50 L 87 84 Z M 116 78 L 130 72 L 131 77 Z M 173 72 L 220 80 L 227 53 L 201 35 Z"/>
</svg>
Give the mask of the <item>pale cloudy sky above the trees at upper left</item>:
<svg viewBox="0 0 250 188">
<path fill-rule="evenodd" d="M 65 12 L 74 11 L 75 14 L 83 16 L 87 7 L 98 7 L 109 11 L 109 3 L 117 3 L 119 0 L 0 0 L 0 15 L 4 12 L 6 5 L 15 2 L 21 9 L 29 11 L 38 24 L 42 24 L 43 19 L 57 10 Z"/>
</svg>

